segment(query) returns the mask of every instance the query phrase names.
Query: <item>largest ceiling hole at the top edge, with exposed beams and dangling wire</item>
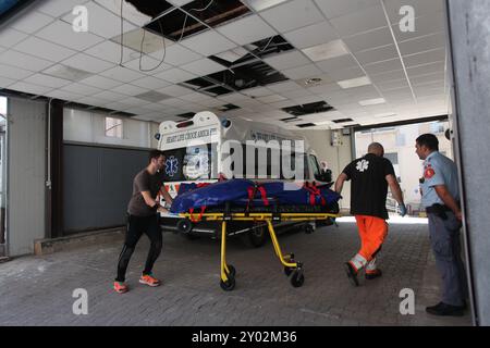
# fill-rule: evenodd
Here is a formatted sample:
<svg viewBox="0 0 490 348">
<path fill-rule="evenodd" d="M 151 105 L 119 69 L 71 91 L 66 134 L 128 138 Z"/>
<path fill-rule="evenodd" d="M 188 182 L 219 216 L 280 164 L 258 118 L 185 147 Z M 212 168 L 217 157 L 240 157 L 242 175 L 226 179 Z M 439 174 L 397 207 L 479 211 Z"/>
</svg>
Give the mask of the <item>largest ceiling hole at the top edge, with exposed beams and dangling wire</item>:
<svg viewBox="0 0 490 348">
<path fill-rule="evenodd" d="M 139 3 L 140 1 L 133 0 L 132 2 L 138 8 L 138 4 L 136 3 Z M 139 7 L 142 7 L 140 11 L 146 11 L 144 12 L 145 14 L 156 18 L 146 25 L 145 28 L 174 41 L 252 13 L 252 11 L 238 0 L 213 0 L 212 2 L 209 2 L 209 0 L 196 0 L 187 3 L 181 9 L 175 8 L 168 13 L 164 13 L 164 11 L 169 10 L 167 1 L 163 1 L 166 4 L 159 4 L 158 10 L 151 9 L 151 4 L 158 3 L 158 1 L 147 0 L 144 2 L 146 5 L 150 7 L 150 9 L 139 4 Z"/>
</svg>

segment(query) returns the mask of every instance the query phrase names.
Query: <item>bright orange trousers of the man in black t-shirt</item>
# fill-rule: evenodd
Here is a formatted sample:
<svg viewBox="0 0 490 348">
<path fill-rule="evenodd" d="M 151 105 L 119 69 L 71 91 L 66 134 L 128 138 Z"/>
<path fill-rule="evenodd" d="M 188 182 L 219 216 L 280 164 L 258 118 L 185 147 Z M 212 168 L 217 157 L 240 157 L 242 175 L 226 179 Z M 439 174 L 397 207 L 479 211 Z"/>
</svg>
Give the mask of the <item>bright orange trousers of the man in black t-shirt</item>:
<svg viewBox="0 0 490 348">
<path fill-rule="evenodd" d="M 355 217 L 360 237 L 360 250 L 358 253 L 369 262 L 381 249 L 388 235 L 388 224 L 381 217 L 367 215 L 355 215 Z"/>
</svg>

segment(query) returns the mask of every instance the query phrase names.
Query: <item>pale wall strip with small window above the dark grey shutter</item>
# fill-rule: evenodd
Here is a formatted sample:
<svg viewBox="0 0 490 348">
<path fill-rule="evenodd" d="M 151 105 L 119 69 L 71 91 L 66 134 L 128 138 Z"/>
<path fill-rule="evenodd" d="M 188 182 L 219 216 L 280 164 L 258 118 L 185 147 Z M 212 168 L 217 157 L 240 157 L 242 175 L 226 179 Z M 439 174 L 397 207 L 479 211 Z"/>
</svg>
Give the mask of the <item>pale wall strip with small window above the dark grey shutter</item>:
<svg viewBox="0 0 490 348">
<path fill-rule="evenodd" d="M 65 109 L 63 114 L 63 139 L 99 145 L 156 148 L 154 141 L 158 125 L 151 122 L 120 117 L 123 121 L 123 138 L 107 137 L 107 114 Z M 117 117 L 118 116 L 111 116 Z"/>
</svg>

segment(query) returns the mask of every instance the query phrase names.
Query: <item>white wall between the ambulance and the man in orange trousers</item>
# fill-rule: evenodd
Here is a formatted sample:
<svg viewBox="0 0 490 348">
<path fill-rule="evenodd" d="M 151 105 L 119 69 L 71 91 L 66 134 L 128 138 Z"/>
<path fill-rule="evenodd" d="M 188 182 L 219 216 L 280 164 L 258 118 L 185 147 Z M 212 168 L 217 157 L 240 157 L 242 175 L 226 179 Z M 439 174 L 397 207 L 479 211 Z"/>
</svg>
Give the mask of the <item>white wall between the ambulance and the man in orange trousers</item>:
<svg viewBox="0 0 490 348">
<path fill-rule="evenodd" d="M 301 130 L 296 133 L 303 136 L 315 150 L 318 162 L 327 161 L 329 169 L 332 171 L 333 181 L 353 160 L 350 136 L 342 136 L 342 146 L 334 147 L 331 146 L 331 130 Z M 344 185 L 342 197 L 341 208 L 348 209 L 351 207 L 351 184 L 348 182 Z"/>
</svg>

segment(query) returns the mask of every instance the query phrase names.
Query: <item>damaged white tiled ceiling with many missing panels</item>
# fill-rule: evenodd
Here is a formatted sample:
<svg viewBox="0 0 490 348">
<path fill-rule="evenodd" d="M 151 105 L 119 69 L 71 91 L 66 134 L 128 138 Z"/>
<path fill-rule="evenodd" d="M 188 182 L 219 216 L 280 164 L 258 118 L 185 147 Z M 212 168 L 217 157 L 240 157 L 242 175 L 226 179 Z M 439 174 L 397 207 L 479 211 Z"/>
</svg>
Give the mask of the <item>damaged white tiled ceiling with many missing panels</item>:
<svg viewBox="0 0 490 348">
<path fill-rule="evenodd" d="M 45 0 L 0 32 L 0 92 L 146 121 L 210 110 L 287 128 L 446 114 L 442 0 Z M 74 33 L 73 7 L 90 14 Z"/>
</svg>

